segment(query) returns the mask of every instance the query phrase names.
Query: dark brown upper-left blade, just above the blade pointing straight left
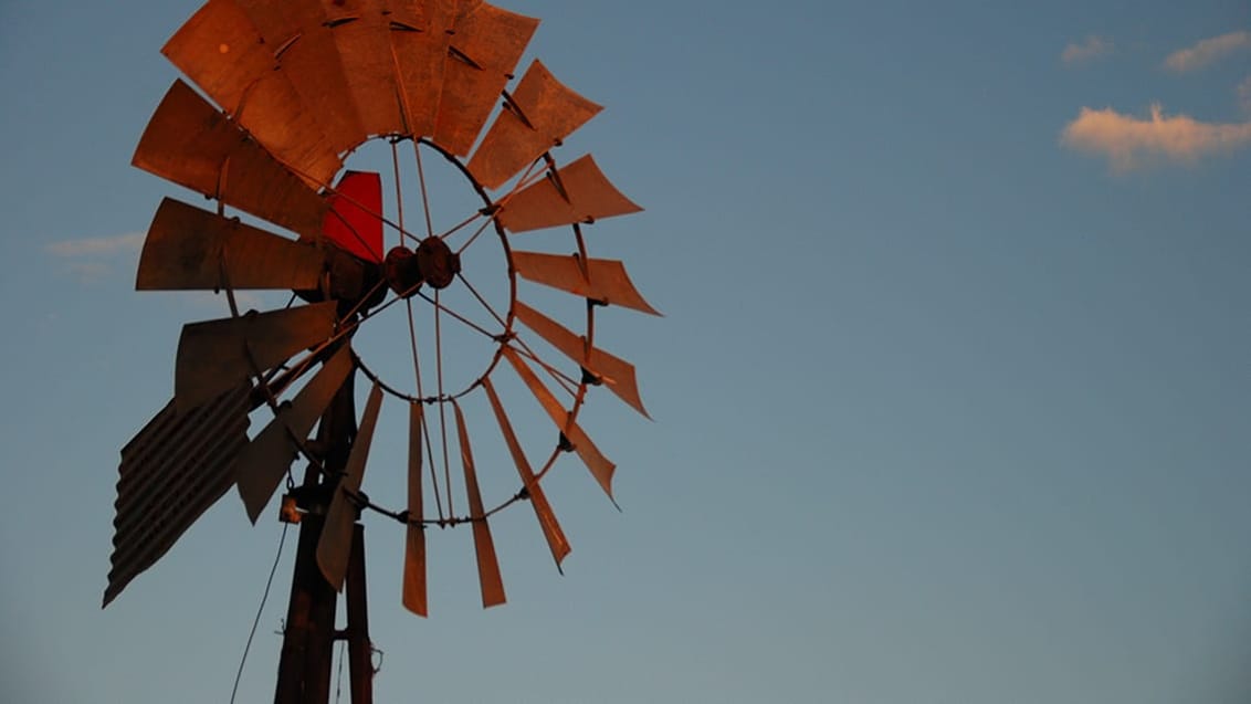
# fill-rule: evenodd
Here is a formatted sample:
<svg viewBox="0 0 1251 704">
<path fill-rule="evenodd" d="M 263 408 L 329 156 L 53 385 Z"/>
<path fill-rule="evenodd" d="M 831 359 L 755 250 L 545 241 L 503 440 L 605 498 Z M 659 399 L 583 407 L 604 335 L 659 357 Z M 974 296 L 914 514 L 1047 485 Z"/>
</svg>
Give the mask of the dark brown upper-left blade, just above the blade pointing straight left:
<svg viewBox="0 0 1251 704">
<path fill-rule="evenodd" d="M 148 123 L 133 163 L 301 235 L 320 233 L 322 198 L 180 80 Z"/>
</svg>

